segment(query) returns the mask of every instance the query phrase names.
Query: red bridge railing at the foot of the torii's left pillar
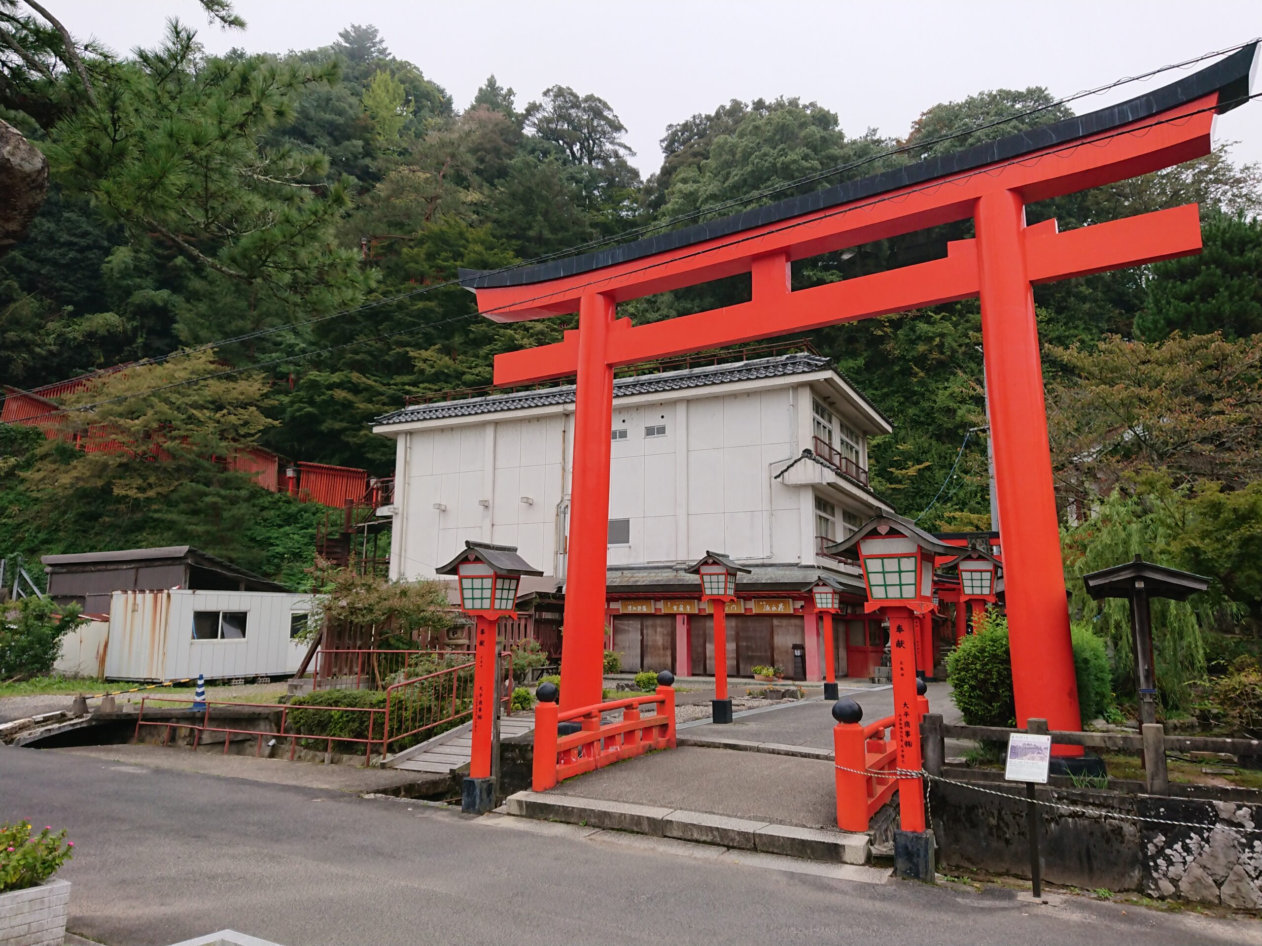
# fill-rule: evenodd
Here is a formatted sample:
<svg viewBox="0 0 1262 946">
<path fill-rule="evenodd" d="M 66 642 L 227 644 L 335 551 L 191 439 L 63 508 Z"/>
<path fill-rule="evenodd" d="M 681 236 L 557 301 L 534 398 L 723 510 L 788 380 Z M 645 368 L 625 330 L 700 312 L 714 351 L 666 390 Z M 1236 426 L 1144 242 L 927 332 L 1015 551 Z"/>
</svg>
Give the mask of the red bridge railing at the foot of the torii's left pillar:
<svg viewBox="0 0 1262 946">
<path fill-rule="evenodd" d="M 642 716 L 640 708 L 651 708 Z M 622 710 L 622 719 L 602 723 L 602 714 Z M 558 735 L 559 723 L 579 720 L 582 730 Z M 535 759 L 533 788 L 543 792 L 557 782 L 581 776 L 650 749 L 675 748 L 675 690 L 659 686 L 652 696 L 598 703 L 560 713 L 555 703 L 535 706 Z"/>
</svg>

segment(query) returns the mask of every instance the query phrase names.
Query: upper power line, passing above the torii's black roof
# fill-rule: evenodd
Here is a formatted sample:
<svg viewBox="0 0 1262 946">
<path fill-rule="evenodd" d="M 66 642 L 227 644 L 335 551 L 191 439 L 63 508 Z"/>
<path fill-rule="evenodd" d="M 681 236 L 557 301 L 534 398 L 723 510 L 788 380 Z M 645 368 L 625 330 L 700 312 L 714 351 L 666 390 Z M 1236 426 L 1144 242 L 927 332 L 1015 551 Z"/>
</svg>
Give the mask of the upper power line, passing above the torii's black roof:
<svg viewBox="0 0 1262 946">
<path fill-rule="evenodd" d="M 1244 42 L 1244 43 L 1238 43 L 1237 45 L 1233 45 L 1233 47 L 1227 47 L 1224 49 L 1218 49 L 1218 50 L 1214 50 L 1214 52 L 1203 53 L 1201 55 L 1194 57 L 1191 59 L 1184 59 L 1182 62 L 1169 63 L 1166 66 L 1161 66 L 1159 68 L 1150 69 L 1148 72 L 1143 72 L 1143 73 L 1140 73 L 1137 76 L 1127 76 L 1127 77 L 1123 77 L 1123 78 L 1114 79 L 1112 82 L 1107 82 L 1107 83 L 1104 83 L 1102 86 L 1095 86 L 1094 88 L 1080 90 L 1080 91 L 1075 92 L 1071 96 L 1065 96 L 1065 97 L 1059 98 L 1059 100 L 1056 100 L 1054 102 L 1049 102 L 1046 105 L 1035 106 L 1032 108 L 1027 108 L 1025 111 L 1016 112 L 1015 115 L 1010 115 L 1010 116 L 1006 116 L 1006 117 L 1002 117 L 1002 119 L 993 119 L 991 121 L 981 122 L 978 125 L 973 125 L 973 126 L 969 126 L 967 129 L 962 129 L 959 131 L 950 132 L 948 135 L 939 135 L 938 137 L 933 137 L 933 139 L 917 140 L 917 141 L 914 141 L 914 143 L 907 143 L 905 145 L 900 145 L 899 148 L 892 148 L 892 149 L 888 149 L 888 150 L 882 151 L 880 154 L 870 155 L 867 158 L 862 158 L 862 159 L 847 163 L 847 164 L 834 165 L 833 168 L 828 168 L 828 169 L 822 170 L 822 172 L 815 172 L 813 174 L 803 175 L 800 178 L 785 182 L 782 184 L 777 184 L 777 185 L 771 187 L 771 188 L 765 188 L 762 190 L 756 190 L 753 193 L 745 194 L 742 197 L 731 198 L 728 201 L 723 201 L 723 202 L 719 202 L 719 203 L 716 203 L 716 204 L 708 204 L 705 207 L 699 207 L 699 208 L 697 208 L 694 211 L 689 211 L 688 213 L 678 214 L 675 217 L 670 217 L 670 218 L 664 219 L 664 221 L 658 221 L 655 223 L 649 223 L 649 225 L 645 225 L 642 227 L 636 227 L 636 228 L 632 228 L 632 230 L 628 230 L 628 231 L 623 231 L 623 232 L 613 235 L 613 236 L 602 237 L 599 240 L 592 240 L 592 241 L 587 241 L 584 243 L 575 243 L 573 246 L 569 246 L 569 247 L 565 247 L 565 248 L 562 248 L 562 250 L 557 250 L 557 251 L 550 252 L 550 254 L 543 254 L 543 255 L 531 257 L 529 260 L 522 260 L 521 262 L 511 264 L 511 265 L 507 265 L 507 266 L 501 266 L 501 267 L 495 269 L 495 270 L 488 270 L 486 275 L 497 275 L 497 274 L 501 274 L 501 272 L 511 272 L 514 270 L 525 269 L 528 266 L 534 266 L 534 265 L 538 265 L 540 262 L 548 262 L 548 261 L 558 259 L 558 257 L 572 256 L 572 255 L 574 255 L 577 252 L 582 252 L 584 250 L 591 250 L 591 248 L 596 248 L 596 247 L 599 247 L 599 246 L 606 246 L 606 245 L 613 243 L 613 242 L 620 242 L 621 243 L 621 242 L 625 242 L 627 240 L 632 240 L 632 238 L 636 238 L 636 237 L 640 237 L 640 236 L 644 236 L 644 235 L 647 235 L 647 233 L 654 233 L 654 232 L 658 232 L 658 231 L 661 231 L 661 230 L 668 230 L 668 228 L 671 228 L 671 227 L 674 227 L 674 226 L 676 226 L 679 223 L 685 223 L 685 222 L 688 222 L 690 219 L 697 219 L 697 218 L 699 218 L 702 216 L 705 216 L 705 214 L 718 213 L 721 211 L 731 209 L 732 207 L 738 207 L 741 204 L 750 203 L 752 201 L 758 201 L 758 199 L 762 199 L 762 198 L 766 198 L 766 197 L 774 197 L 774 196 L 784 193 L 786 190 L 791 190 L 791 189 L 795 189 L 798 187 L 803 187 L 804 184 L 815 183 L 818 180 L 824 180 L 827 178 L 834 177 L 837 174 L 843 174 L 843 173 L 846 173 L 848 170 L 854 170 L 857 168 L 867 166 L 870 164 L 873 164 L 873 163 L 878 161 L 878 160 L 883 160 L 886 158 L 892 158 L 892 156 L 896 156 L 896 155 L 900 155 L 900 154 L 906 154 L 907 151 L 921 149 L 921 148 L 929 148 L 931 145 L 941 144 L 944 141 L 952 141 L 952 140 L 955 140 L 958 137 L 967 137 L 968 135 L 977 134 L 978 131 L 986 131 L 987 129 L 997 127 L 1000 125 L 1006 125 L 1008 122 L 1017 121 L 1020 119 L 1026 119 L 1026 117 L 1030 117 L 1031 115 L 1037 115 L 1037 114 L 1041 114 L 1041 112 L 1047 111 L 1050 108 L 1056 108 L 1056 107 L 1059 107 L 1061 105 L 1068 105 L 1069 102 L 1078 101 L 1079 98 L 1085 98 L 1088 96 L 1094 96 L 1094 95 L 1103 95 L 1104 92 L 1112 91 L 1114 88 L 1119 88 L 1119 87 L 1129 85 L 1132 82 L 1141 82 L 1141 81 L 1150 79 L 1153 76 L 1159 76 L 1159 74 L 1161 74 L 1164 72 L 1169 72 L 1171 69 L 1186 69 L 1186 68 L 1190 68 L 1190 67 L 1193 67 L 1193 66 L 1195 66 L 1195 64 L 1198 64 L 1200 62 L 1204 62 L 1205 59 L 1212 59 L 1212 58 L 1218 57 L 1218 55 L 1225 55 L 1225 54 L 1233 53 L 1233 52 L 1235 52 L 1238 49 L 1243 49 L 1246 45 L 1248 45 L 1249 43 L 1254 43 L 1254 42 L 1258 42 L 1258 39 L 1251 39 L 1251 40 Z M 356 305 L 356 307 L 351 307 L 348 309 L 341 309 L 338 312 L 328 313 L 326 315 L 317 315 L 317 317 L 310 318 L 310 319 L 304 319 L 303 322 L 295 322 L 295 323 L 290 323 L 290 324 L 285 324 L 285 325 L 274 325 L 271 328 L 255 329 L 252 332 L 246 332 L 246 333 L 242 333 L 242 334 L 239 334 L 239 336 L 233 336 L 233 337 L 230 337 L 230 338 L 221 338 L 221 339 L 217 339 L 215 342 L 204 342 L 204 343 L 202 343 L 199 346 L 193 346 L 192 348 L 182 348 L 179 351 L 168 352 L 167 354 L 159 354 L 159 356 L 154 356 L 151 358 L 141 358 L 141 359 L 139 359 L 139 361 L 133 362 L 131 365 L 129 365 L 129 367 L 145 367 L 145 366 L 149 366 L 149 365 L 162 365 L 162 363 L 164 363 L 164 362 L 167 362 L 167 361 L 169 361 L 172 358 L 175 358 L 175 357 L 188 356 L 188 354 L 197 354 L 199 352 L 211 351 L 213 348 L 221 348 L 221 347 L 228 346 L 228 344 L 239 344 L 241 342 L 249 342 L 249 341 L 254 341 L 256 338 L 265 338 L 266 336 L 275 334 L 278 332 L 293 332 L 293 330 L 297 330 L 297 329 L 300 329 L 300 328 L 305 328 L 307 325 L 319 324 L 322 322 L 328 322 L 331 319 L 342 318 L 343 315 L 353 315 L 356 313 L 366 312 L 369 309 L 374 309 L 374 308 L 377 308 L 377 307 L 381 307 L 381 305 L 390 305 L 392 303 L 403 301 L 405 299 L 410 299 L 410 298 L 416 296 L 416 295 L 425 295 L 425 294 L 428 294 L 430 291 L 434 291 L 434 290 L 438 290 L 438 289 L 445 289 L 445 288 L 449 288 L 449 286 L 453 286 L 453 285 L 458 285 L 459 283 L 461 283 L 459 279 L 444 280 L 442 283 L 435 283 L 435 284 L 432 284 L 432 285 L 428 285 L 428 286 L 422 286 L 419 289 L 409 290 L 406 293 L 400 293 L 398 295 L 389 296 L 386 299 L 375 299 L 375 300 L 366 301 L 366 303 L 362 303 L 362 304 Z M 427 324 L 438 325 L 438 324 L 444 324 L 444 323 L 443 322 L 438 322 L 438 323 L 427 323 Z M 256 365 L 255 367 L 261 367 L 261 365 Z M 68 378 L 67 381 L 90 380 L 90 378 L 93 378 L 93 377 L 98 377 L 98 376 L 101 376 L 101 375 L 103 375 L 103 373 L 106 373 L 109 371 L 110 370 L 88 372 L 88 373 L 81 375 L 80 377 L 76 377 L 76 378 Z M 37 390 L 29 390 L 29 391 L 28 390 L 21 390 L 21 388 L 16 388 L 16 390 L 20 394 L 32 394 L 32 395 L 38 396 L 38 391 Z"/>
</svg>

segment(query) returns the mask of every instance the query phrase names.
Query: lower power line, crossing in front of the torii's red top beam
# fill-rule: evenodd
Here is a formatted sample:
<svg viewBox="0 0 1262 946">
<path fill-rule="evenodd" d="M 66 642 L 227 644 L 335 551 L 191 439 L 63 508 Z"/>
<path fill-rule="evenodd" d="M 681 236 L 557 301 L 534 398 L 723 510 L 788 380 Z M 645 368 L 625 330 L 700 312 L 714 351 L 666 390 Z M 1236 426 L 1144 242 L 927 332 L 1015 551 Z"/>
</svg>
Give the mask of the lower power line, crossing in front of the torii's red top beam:
<svg viewBox="0 0 1262 946">
<path fill-rule="evenodd" d="M 1253 101 L 1254 98 L 1258 98 L 1258 97 L 1262 97 L 1262 92 L 1254 93 L 1254 95 L 1251 95 L 1251 96 L 1241 96 L 1238 98 L 1230 100 L 1229 102 L 1218 102 L 1215 105 L 1206 106 L 1204 108 L 1198 108 L 1196 111 L 1191 111 L 1191 112 L 1184 112 L 1182 115 L 1177 115 L 1177 116 L 1174 116 L 1174 117 L 1170 117 L 1170 119 L 1160 119 L 1160 120 L 1156 120 L 1156 121 L 1151 121 L 1151 122 L 1148 122 L 1146 125 L 1140 125 L 1140 126 L 1136 126 L 1136 127 L 1129 127 L 1129 129 L 1126 129 L 1126 130 L 1114 131 L 1114 132 L 1112 132 L 1109 135 L 1102 135 L 1102 136 L 1092 137 L 1087 143 L 1084 143 L 1082 140 L 1074 140 L 1074 141 L 1070 141 L 1070 143 L 1068 143 L 1065 145 L 1061 145 L 1060 148 L 1044 151 L 1042 154 L 1040 154 L 1037 156 L 1032 156 L 1031 158 L 1030 155 L 1023 155 L 1023 156 L 1010 159 L 1007 161 L 1002 161 L 1000 164 L 989 164 L 989 165 L 984 165 L 982 168 L 976 168 L 976 169 L 972 169 L 972 170 L 968 170 L 968 172 L 963 172 L 959 175 L 953 177 L 953 178 L 935 178 L 934 180 L 926 182 L 925 184 L 921 184 L 920 187 L 910 188 L 910 189 L 906 189 L 906 190 L 897 190 L 897 192 L 893 192 L 891 194 L 882 194 L 881 197 L 875 198 L 875 199 L 868 201 L 868 202 L 864 202 L 864 203 L 849 204 L 849 206 L 846 206 L 846 207 L 840 207 L 840 208 L 838 208 L 835 211 L 830 211 L 830 212 L 827 212 L 827 213 L 822 213 L 822 214 L 814 216 L 809 221 L 798 221 L 798 222 L 785 223 L 782 226 L 774 227 L 771 230 L 760 231 L 756 235 L 746 235 L 746 236 L 741 236 L 741 237 L 734 237 L 732 240 L 727 240 L 724 242 L 716 243 L 713 246 L 707 246 L 704 248 L 695 250 L 695 251 L 689 252 L 689 254 L 684 254 L 684 255 L 680 255 L 680 256 L 671 256 L 670 260 L 664 260 L 664 261 L 658 261 L 658 262 L 646 262 L 642 266 L 637 266 L 636 269 L 625 271 L 622 275 L 635 275 L 635 274 L 639 274 L 639 272 L 645 272 L 645 271 L 656 269 L 659 266 L 665 266 L 668 264 L 675 264 L 675 262 L 679 262 L 680 260 L 688 260 L 688 259 L 693 259 L 695 256 L 703 256 L 705 254 L 712 254 L 712 252 L 716 252 L 717 250 L 723 250 L 723 248 L 727 248 L 729 246 L 737 246 L 737 245 L 743 243 L 743 242 L 765 240 L 766 237 L 772 236 L 775 233 L 782 233 L 782 232 L 786 232 L 786 231 L 790 231 L 790 230 L 794 230 L 794 228 L 801 227 L 801 226 L 814 226 L 814 225 L 819 223 L 823 219 L 829 219 L 832 217 L 844 216 L 847 213 L 853 213 L 854 211 L 867 209 L 870 207 L 875 207 L 875 206 L 878 206 L 881 203 L 886 203 L 888 201 L 904 201 L 909 196 L 915 194 L 915 193 L 920 193 L 923 190 L 934 190 L 934 189 L 941 188 L 941 187 L 944 187 L 946 184 L 957 184 L 957 185 L 959 185 L 959 184 L 969 180 L 970 178 L 974 178 L 974 177 L 978 177 L 978 175 L 983 175 L 984 174 L 984 175 L 988 175 L 988 177 L 993 177 L 994 174 L 1002 174 L 1007 168 L 1011 168 L 1012 165 L 1017 165 L 1017 164 L 1030 165 L 1031 163 L 1045 160 L 1045 159 L 1055 156 L 1055 155 L 1058 155 L 1058 154 L 1060 154 L 1063 151 L 1076 150 L 1076 149 L 1082 148 L 1084 144 L 1099 145 L 1099 144 L 1106 143 L 1106 141 L 1112 141 L 1116 137 L 1122 137 L 1122 136 L 1126 136 L 1126 135 L 1136 135 L 1136 134 L 1140 134 L 1140 132 L 1148 131 L 1150 129 L 1159 127 L 1161 125 L 1167 125 L 1167 124 L 1171 124 L 1171 122 L 1184 122 L 1184 121 L 1188 121 L 1189 119 L 1191 119 L 1195 115 L 1201 115 L 1201 114 L 1208 112 L 1208 111 L 1217 111 L 1218 108 L 1223 107 L 1223 105 L 1232 105 L 1232 106 L 1243 105 L 1244 102 Z M 447 284 L 443 284 L 443 285 L 454 285 L 457 281 L 458 280 L 452 280 L 452 281 L 449 281 Z M 599 276 L 599 277 L 596 277 L 596 279 L 591 279 L 591 280 L 588 280 L 586 283 L 581 283 L 579 285 L 577 285 L 574 288 L 575 289 L 586 289 L 586 288 L 599 285 L 599 284 L 607 283 L 607 281 L 608 281 L 608 276 Z M 432 286 L 432 288 L 437 289 L 438 286 Z M 512 303 L 511 305 L 512 307 L 517 307 L 517 305 L 521 305 L 524 303 L 540 301 L 540 300 L 551 298 L 553 295 L 554 295 L 554 293 L 544 293 L 544 294 L 540 294 L 540 295 L 536 295 L 536 296 L 531 296 L 531 298 L 528 298 L 528 299 L 519 299 L 515 303 Z M 237 373 L 241 373 L 244 371 L 256 371 L 259 368 L 270 367 L 273 365 L 280 365 L 280 363 L 292 362 L 292 361 L 300 361 L 300 359 L 310 358 L 310 357 L 314 357 L 314 356 L 318 356 L 318 354 L 327 354 L 327 353 L 334 352 L 334 351 L 343 351 L 346 348 L 353 348 L 353 347 L 360 346 L 360 344 L 370 344 L 372 342 L 380 342 L 380 341 L 385 341 L 387 338 L 395 338 L 398 336 L 409 334 L 411 332 L 420 332 L 423 329 L 433 328 L 435 325 L 442 325 L 442 324 L 448 324 L 448 323 L 458 322 L 461 319 L 473 318 L 475 315 L 490 315 L 490 314 L 493 314 L 496 312 L 502 312 L 504 309 L 507 309 L 507 308 L 510 308 L 509 304 L 497 305 L 497 307 L 493 307 L 491 309 L 486 309 L 485 312 L 473 312 L 473 313 L 466 313 L 463 315 L 454 315 L 454 317 L 451 317 L 448 319 L 440 319 L 439 322 L 432 322 L 432 323 L 425 323 L 423 325 L 413 325 L 410 328 L 396 329 L 394 332 L 386 332 L 386 333 L 382 333 L 382 334 L 379 334 L 379 336 L 374 336 L 371 338 L 362 338 L 362 339 L 356 339 L 353 342 L 346 342 L 343 344 L 328 346 L 326 348 L 319 348 L 319 349 L 314 349 L 314 351 L 310 351 L 310 352 L 300 352 L 300 353 L 294 354 L 294 356 L 284 356 L 284 357 L 280 357 L 280 358 L 274 358 L 274 359 L 268 361 L 268 362 L 260 362 L 257 365 L 246 365 L 246 366 L 241 366 L 241 367 L 236 367 L 236 368 L 225 368 L 223 371 L 212 372 L 209 375 L 199 375 L 199 376 L 193 377 L 193 378 L 184 378 L 182 381 L 173 381 L 173 382 L 170 382 L 168 385 L 160 385 L 158 387 L 149 388 L 146 391 L 139 391 L 139 392 L 134 392 L 134 394 L 129 394 L 129 395 L 120 395 L 117 397 L 109 397 L 109 399 L 105 399 L 105 400 L 101 400 L 101 401 L 95 401 L 92 404 L 78 405 L 78 406 L 74 406 L 74 407 L 63 407 L 61 410 L 48 411 L 45 414 L 39 414 L 39 415 L 33 415 L 30 418 L 24 418 L 24 420 L 38 420 L 40 418 L 59 416 L 62 414 L 83 412 L 83 411 L 92 410 L 93 407 L 103 406 L 106 404 L 114 404 L 114 402 L 117 402 L 117 401 L 126 401 L 126 400 L 131 400 L 131 399 L 135 399 L 135 397 L 144 397 L 144 396 L 148 396 L 148 395 L 151 395 L 151 394 L 158 394 L 158 392 L 162 392 L 162 391 L 167 391 L 167 390 L 170 390 L 170 388 L 174 388 L 174 387 L 183 387 L 186 385 L 197 383 L 199 381 L 208 381 L 208 380 L 213 380 L 213 378 L 217 378 L 217 377 L 225 377 L 225 376 L 228 376 L 228 375 L 237 375 Z M 962 450 L 963 450 L 963 448 L 962 448 Z M 928 512 L 928 510 L 925 512 Z M 920 515 L 924 516 L 925 513 L 923 512 Z"/>
</svg>

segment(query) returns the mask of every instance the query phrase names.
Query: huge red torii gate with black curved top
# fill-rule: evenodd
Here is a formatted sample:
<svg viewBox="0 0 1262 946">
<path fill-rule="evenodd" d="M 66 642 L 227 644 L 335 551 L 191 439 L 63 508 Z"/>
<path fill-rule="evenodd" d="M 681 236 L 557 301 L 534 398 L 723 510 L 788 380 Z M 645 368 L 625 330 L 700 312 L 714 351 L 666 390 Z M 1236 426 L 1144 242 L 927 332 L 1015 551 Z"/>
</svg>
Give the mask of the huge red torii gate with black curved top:
<svg viewBox="0 0 1262 946">
<path fill-rule="evenodd" d="M 1257 44 L 1142 97 L 661 236 L 554 262 L 462 272 L 498 322 L 578 312 L 564 341 L 496 356 L 495 382 L 578 376 L 565 709 L 601 701 L 613 368 L 981 296 L 1017 723 L 1079 729 L 1031 286 L 1200 250 L 1195 204 L 1059 233 L 1035 201 L 1210 151 L 1214 116 L 1249 95 Z M 794 260 L 972 218 L 944 259 L 793 291 Z M 750 272 L 752 298 L 632 327 L 621 301 Z"/>
</svg>

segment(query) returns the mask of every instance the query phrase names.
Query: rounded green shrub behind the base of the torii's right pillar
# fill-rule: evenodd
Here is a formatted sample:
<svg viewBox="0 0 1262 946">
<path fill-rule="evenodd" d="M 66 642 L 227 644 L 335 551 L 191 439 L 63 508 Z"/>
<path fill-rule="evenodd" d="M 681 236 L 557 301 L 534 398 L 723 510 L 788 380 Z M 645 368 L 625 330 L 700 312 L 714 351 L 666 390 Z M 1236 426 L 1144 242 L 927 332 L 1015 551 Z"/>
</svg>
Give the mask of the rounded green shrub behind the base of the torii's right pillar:
<svg viewBox="0 0 1262 946">
<path fill-rule="evenodd" d="M 1078 706 L 1083 720 L 1109 713 L 1112 672 L 1104 642 L 1090 628 L 1071 632 Z M 1012 661 L 1008 652 L 1008 622 L 993 610 L 986 613 L 977 633 L 965 637 L 946 657 L 952 699 L 964 723 L 977 727 L 1016 725 L 1012 699 Z"/>
</svg>

